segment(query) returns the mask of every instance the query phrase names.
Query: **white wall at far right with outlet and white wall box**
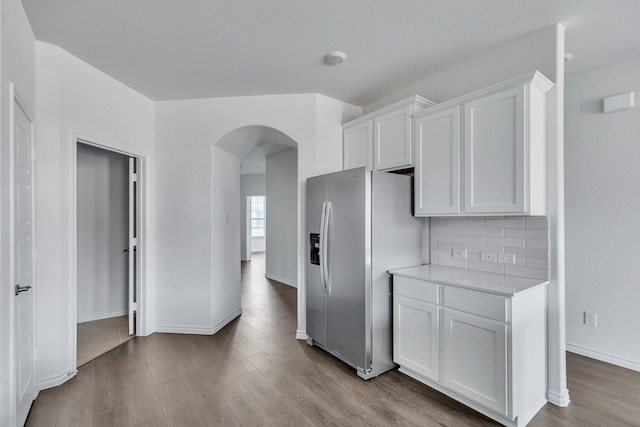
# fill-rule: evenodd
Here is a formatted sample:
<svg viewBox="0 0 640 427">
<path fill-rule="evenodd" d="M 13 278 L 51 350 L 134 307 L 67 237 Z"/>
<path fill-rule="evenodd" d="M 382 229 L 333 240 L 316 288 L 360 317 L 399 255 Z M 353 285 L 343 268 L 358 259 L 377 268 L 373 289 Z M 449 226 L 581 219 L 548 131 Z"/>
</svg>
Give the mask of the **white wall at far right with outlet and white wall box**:
<svg viewBox="0 0 640 427">
<path fill-rule="evenodd" d="M 566 81 L 567 347 L 640 370 L 640 107 L 602 113 L 629 91 L 637 103 L 640 58 Z"/>
</svg>

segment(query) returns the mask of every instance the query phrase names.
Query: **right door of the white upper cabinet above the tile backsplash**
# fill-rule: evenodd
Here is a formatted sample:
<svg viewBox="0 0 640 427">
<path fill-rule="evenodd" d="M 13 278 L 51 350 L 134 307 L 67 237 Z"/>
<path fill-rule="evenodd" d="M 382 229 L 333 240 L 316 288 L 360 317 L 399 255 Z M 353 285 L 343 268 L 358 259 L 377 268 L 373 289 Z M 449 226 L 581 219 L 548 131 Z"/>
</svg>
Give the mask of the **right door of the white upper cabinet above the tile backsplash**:
<svg viewBox="0 0 640 427">
<path fill-rule="evenodd" d="M 524 85 L 465 104 L 467 213 L 525 212 Z"/>
</svg>

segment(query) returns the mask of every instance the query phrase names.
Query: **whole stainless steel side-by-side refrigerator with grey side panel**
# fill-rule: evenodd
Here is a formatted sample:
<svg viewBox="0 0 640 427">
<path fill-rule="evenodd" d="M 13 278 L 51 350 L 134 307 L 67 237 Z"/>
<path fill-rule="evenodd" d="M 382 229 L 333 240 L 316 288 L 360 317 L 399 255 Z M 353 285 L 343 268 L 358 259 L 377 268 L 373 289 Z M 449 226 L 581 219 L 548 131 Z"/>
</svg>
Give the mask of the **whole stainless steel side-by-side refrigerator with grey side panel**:
<svg viewBox="0 0 640 427">
<path fill-rule="evenodd" d="M 423 260 L 411 184 L 365 168 L 307 179 L 307 342 L 364 379 L 395 367 L 387 270 Z"/>
</svg>

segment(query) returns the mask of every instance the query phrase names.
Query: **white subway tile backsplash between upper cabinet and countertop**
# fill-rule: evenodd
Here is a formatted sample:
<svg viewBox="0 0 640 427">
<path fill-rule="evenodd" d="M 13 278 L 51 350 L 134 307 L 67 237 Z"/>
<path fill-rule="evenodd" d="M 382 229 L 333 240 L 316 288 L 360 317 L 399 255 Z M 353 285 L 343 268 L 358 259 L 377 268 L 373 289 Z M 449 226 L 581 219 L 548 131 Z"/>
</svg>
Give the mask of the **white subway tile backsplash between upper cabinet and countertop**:
<svg viewBox="0 0 640 427">
<path fill-rule="evenodd" d="M 432 218 L 431 263 L 499 274 L 549 278 L 546 217 Z M 453 257 L 454 249 L 466 258 Z M 513 264 L 483 262 L 481 252 L 513 254 Z"/>
</svg>

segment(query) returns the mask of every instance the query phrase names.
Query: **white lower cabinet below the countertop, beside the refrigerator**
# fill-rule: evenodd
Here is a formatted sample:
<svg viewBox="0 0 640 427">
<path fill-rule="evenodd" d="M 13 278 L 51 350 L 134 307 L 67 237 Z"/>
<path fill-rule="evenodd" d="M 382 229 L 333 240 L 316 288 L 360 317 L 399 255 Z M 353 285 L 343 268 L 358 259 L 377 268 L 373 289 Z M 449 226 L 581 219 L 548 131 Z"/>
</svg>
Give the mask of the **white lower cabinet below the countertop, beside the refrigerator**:
<svg viewBox="0 0 640 427">
<path fill-rule="evenodd" d="M 403 372 L 506 426 L 546 399 L 546 286 L 498 295 L 394 275 Z"/>
</svg>

